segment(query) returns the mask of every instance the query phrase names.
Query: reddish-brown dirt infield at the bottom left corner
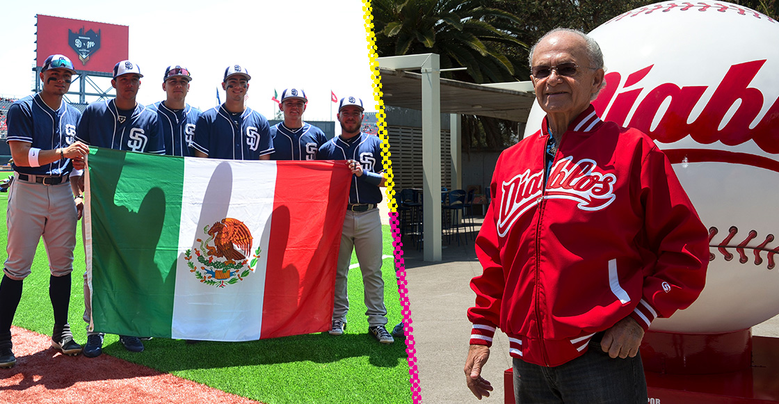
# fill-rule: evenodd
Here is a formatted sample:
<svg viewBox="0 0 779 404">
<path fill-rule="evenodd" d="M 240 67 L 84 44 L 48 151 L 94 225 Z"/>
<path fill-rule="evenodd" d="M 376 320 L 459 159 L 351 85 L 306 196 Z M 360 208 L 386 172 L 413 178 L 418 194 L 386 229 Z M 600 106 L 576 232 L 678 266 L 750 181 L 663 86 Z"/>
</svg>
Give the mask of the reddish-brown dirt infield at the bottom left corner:
<svg viewBox="0 0 779 404">
<path fill-rule="evenodd" d="M 48 335 L 12 327 L 16 367 L 0 369 L 0 403 L 256 403 L 108 355 L 67 357 Z"/>
</svg>

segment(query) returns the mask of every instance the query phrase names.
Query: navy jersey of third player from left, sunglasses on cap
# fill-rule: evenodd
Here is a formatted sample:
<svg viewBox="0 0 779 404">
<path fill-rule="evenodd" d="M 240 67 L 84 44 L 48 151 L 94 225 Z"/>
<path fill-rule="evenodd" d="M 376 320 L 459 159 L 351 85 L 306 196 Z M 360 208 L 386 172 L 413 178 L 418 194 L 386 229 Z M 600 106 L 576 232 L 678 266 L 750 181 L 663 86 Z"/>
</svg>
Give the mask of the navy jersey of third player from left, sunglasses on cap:
<svg viewBox="0 0 779 404">
<path fill-rule="evenodd" d="M 146 107 L 157 114 L 168 156 L 195 156 L 192 141 L 195 139 L 195 125 L 200 117 L 199 109 L 185 104 L 183 110 L 171 110 L 165 101 Z"/>
</svg>

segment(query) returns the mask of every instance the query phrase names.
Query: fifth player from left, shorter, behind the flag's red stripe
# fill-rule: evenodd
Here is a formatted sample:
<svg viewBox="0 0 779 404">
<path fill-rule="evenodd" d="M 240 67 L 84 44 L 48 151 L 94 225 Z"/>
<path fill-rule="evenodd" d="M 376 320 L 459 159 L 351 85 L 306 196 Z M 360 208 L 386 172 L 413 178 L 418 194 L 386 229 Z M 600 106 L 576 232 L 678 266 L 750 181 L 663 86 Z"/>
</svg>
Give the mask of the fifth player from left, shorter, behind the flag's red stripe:
<svg viewBox="0 0 779 404">
<path fill-rule="evenodd" d="M 322 129 L 303 121 L 307 104 L 303 90 L 287 89 L 281 93 L 279 109 L 284 113 L 284 121 L 270 128 L 275 150 L 271 160 L 316 160 L 316 153 L 327 138 Z"/>
</svg>

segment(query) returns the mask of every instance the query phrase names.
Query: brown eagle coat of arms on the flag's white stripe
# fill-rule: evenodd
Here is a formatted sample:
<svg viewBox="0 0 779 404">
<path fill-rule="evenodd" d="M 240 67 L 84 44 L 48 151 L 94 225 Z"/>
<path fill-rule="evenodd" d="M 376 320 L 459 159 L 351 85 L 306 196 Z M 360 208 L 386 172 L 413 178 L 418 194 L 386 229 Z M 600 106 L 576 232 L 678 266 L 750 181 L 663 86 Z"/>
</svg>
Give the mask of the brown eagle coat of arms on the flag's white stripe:
<svg viewBox="0 0 779 404">
<path fill-rule="evenodd" d="M 197 239 L 200 248 L 193 248 L 196 262 L 192 262 L 192 250 L 184 253 L 189 272 L 194 272 L 200 283 L 217 287 L 234 285 L 254 272 L 260 249 L 257 247 L 249 262 L 254 237 L 241 220 L 224 218 L 213 226 L 206 226 L 203 233 L 207 238 Z"/>
</svg>

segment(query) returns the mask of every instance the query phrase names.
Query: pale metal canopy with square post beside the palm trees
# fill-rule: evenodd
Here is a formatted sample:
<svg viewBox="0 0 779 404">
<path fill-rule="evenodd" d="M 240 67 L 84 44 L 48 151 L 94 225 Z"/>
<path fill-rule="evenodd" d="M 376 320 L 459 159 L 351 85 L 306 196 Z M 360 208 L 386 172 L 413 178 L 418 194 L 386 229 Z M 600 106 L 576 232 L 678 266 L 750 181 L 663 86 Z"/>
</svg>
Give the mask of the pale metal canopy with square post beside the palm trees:
<svg viewBox="0 0 779 404">
<path fill-rule="evenodd" d="M 459 114 L 474 114 L 527 122 L 535 102 L 529 82 L 474 84 L 441 79 L 438 54 L 409 54 L 377 58 L 385 105 L 422 111 L 422 207 L 425 261 L 441 261 L 441 122 L 452 114 L 453 178 L 461 181 Z M 419 70 L 419 73 L 410 72 Z"/>
</svg>

